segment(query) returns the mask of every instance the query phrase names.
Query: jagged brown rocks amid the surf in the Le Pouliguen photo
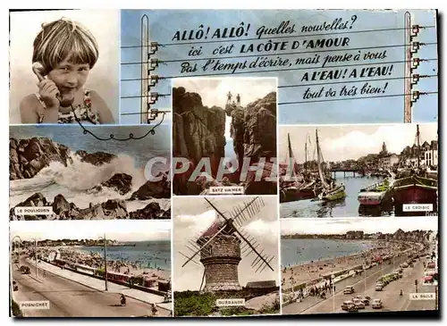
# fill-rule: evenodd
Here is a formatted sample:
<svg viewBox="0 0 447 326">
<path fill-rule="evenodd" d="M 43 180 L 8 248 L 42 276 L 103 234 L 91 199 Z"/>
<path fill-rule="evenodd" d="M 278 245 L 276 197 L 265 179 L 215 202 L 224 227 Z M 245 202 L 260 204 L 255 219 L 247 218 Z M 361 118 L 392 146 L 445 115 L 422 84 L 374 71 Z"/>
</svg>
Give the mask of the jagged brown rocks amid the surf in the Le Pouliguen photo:
<svg viewBox="0 0 447 326">
<path fill-rule="evenodd" d="M 81 162 L 95 166 L 111 163 L 116 155 L 105 152 L 87 153 L 76 151 L 75 156 Z M 53 142 L 50 138 L 15 139 L 10 138 L 10 181 L 32 179 L 39 171 L 52 162 L 69 166 L 73 163 L 72 152 L 69 147 Z M 10 209 L 11 221 L 27 220 L 108 220 L 108 219 L 170 219 L 171 209 L 164 210 L 153 199 L 169 199 L 171 197 L 171 182 L 165 173 L 158 175 L 160 180 L 150 181 L 131 192 L 132 176 L 126 173 L 115 173 L 110 179 L 86 190 L 87 194 L 96 194 L 103 188 L 111 188 L 121 196 L 129 194 L 128 198 L 107 198 L 89 207 L 78 207 L 69 202 L 63 194 L 56 195 L 53 200 L 46 198 L 41 192 L 35 192 L 21 203 Z M 148 201 L 143 208 L 128 211 L 126 203 L 131 201 Z M 16 207 L 51 206 L 51 215 L 17 215 Z"/>
</svg>

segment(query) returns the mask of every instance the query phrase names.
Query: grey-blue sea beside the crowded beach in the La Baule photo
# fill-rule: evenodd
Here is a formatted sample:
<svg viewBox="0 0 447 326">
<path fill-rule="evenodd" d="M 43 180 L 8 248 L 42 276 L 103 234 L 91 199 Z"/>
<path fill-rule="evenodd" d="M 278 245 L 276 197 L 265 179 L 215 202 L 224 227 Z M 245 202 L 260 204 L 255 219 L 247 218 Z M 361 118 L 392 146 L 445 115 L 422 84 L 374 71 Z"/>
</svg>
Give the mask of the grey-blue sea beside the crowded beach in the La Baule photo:
<svg viewBox="0 0 447 326">
<path fill-rule="evenodd" d="M 372 248 L 371 243 L 323 238 L 282 238 L 283 267 L 310 263 L 322 259 L 353 255 Z"/>
</svg>

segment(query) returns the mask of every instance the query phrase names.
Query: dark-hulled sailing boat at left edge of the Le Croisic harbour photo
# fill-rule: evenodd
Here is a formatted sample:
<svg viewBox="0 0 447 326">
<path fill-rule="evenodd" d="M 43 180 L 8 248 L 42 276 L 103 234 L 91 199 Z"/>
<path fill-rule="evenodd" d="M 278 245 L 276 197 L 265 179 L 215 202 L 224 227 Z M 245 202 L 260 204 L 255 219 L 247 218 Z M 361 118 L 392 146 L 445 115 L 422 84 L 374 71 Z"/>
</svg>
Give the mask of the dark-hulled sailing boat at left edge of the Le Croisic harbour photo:
<svg viewBox="0 0 447 326">
<path fill-rule="evenodd" d="M 295 156 L 293 155 L 293 151 L 291 149 L 291 136 L 290 134 L 287 134 L 287 141 L 288 141 L 288 147 L 287 147 L 287 159 L 289 160 L 288 163 L 288 170 L 289 167 L 291 168 L 291 182 L 283 182 L 283 187 L 280 192 L 280 202 L 281 203 L 287 203 L 287 202 L 294 202 L 298 200 L 303 199 L 311 199 L 316 196 L 315 191 L 315 180 L 312 180 L 310 182 L 306 182 L 305 178 L 302 176 L 302 174 L 299 172 L 297 163 L 295 161 Z M 306 139 L 305 144 L 305 152 L 306 152 L 306 158 L 304 167 L 306 169 L 306 163 L 308 160 L 308 140 Z M 292 164 L 292 165 L 291 165 Z"/>
</svg>

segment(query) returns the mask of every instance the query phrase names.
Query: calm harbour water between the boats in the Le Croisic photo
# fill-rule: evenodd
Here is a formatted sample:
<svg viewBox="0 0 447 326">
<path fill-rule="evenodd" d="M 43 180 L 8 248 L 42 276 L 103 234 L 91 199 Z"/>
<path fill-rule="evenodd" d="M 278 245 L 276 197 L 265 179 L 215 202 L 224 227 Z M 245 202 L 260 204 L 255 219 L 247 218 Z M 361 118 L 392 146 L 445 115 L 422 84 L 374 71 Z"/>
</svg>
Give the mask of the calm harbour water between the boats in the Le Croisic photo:
<svg viewBox="0 0 447 326">
<path fill-rule="evenodd" d="M 299 200 L 296 202 L 283 203 L 280 205 L 282 218 L 291 217 L 358 217 L 358 216 L 392 216 L 394 215 L 392 205 L 377 207 L 360 207 L 358 203 L 358 192 L 372 184 L 380 182 L 383 178 L 360 177 L 352 172 L 335 172 L 335 180 L 338 185 L 343 184 L 346 188 L 346 197 L 336 201 L 312 201 Z"/>
</svg>

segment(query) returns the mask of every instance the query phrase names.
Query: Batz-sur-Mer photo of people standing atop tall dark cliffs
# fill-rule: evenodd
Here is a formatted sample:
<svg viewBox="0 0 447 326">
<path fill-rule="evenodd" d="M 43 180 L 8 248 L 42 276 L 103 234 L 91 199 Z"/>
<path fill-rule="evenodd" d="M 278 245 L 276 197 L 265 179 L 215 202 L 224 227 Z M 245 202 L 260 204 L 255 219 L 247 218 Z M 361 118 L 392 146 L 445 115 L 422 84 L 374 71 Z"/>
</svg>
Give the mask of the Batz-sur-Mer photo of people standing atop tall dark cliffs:
<svg viewBox="0 0 447 326">
<path fill-rule="evenodd" d="M 272 78 L 173 79 L 173 194 L 276 195 Z"/>
</svg>

